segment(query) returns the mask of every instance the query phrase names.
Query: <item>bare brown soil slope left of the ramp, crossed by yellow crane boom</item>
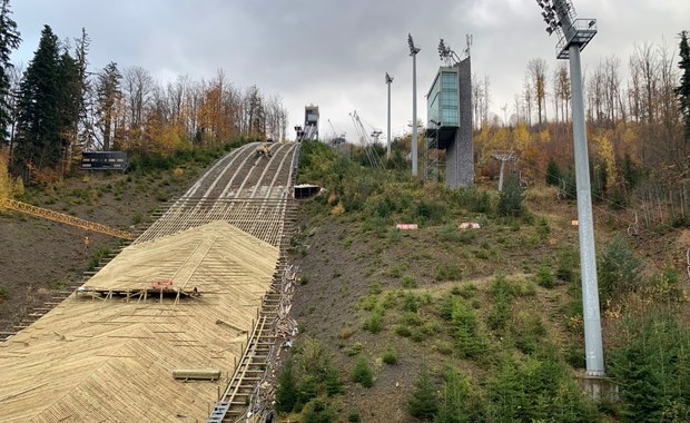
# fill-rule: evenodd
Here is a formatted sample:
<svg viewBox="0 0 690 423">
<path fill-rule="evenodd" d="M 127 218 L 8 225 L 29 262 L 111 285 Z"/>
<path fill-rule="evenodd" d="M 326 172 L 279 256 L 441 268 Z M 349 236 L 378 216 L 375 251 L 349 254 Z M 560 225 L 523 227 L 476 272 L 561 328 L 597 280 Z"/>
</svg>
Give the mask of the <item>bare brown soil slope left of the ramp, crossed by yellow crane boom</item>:
<svg viewBox="0 0 690 423">
<path fill-rule="evenodd" d="M 166 199 L 183 194 L 200 169 L 183 175 L 78 171 L 49 187 L 29 188 L 27 203 L 107 226 L 137 230 Z M 23 198 L 23 197 L 22 197 Z M 134 225 L 134 224 L 137 225 Z M 85 237 L 89 238 L 88 246 Z M 39 217 L 0 210 L 0 332 L 16 332 L 34 308 L 51 307 L 55 293 L 81 279 L 99 248 L 121 240 Z"/>
</svg>

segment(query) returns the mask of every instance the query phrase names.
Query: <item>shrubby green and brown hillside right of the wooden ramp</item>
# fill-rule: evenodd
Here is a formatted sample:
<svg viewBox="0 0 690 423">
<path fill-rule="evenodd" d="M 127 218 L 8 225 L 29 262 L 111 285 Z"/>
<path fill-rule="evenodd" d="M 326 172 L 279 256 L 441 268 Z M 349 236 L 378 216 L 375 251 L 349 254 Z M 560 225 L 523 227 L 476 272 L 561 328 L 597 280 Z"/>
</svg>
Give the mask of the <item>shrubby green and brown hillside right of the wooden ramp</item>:
<svg viewBox="0 0 690 423">
<path fill-rule="evenodd" d="M 672 247 L 684 229 L 633 238 L 624 212 L 597 210 L 607 376 L 620 401 L 593 402 L 576 382 L 574 201 L 545 184 L 522 191 L 513 174 L 499 195 L 495 181 L 450 189 L 364 163 L 303 145 L 299 179 L 326 191 L 302 205 L 290 244 L 300 336 L 278 411 L 304 422 L 690 420 L 688 281 Z"/>
</svg>

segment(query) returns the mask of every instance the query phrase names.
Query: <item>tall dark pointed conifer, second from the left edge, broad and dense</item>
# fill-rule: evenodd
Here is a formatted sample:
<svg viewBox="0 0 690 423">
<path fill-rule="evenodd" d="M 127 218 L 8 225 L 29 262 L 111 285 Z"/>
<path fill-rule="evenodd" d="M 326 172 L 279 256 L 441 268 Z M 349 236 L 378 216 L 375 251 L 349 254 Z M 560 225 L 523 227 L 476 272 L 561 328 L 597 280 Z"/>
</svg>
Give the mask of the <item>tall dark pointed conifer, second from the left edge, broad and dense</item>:
<svg viewBox="0 0 690 423">
<path fill-rule="evenodd" d="M 57 168 L 60 164 L 59 77 L 58 37 L 45 26 L 38 50 L 20 85 L 16 168 Z"/>
</svg>

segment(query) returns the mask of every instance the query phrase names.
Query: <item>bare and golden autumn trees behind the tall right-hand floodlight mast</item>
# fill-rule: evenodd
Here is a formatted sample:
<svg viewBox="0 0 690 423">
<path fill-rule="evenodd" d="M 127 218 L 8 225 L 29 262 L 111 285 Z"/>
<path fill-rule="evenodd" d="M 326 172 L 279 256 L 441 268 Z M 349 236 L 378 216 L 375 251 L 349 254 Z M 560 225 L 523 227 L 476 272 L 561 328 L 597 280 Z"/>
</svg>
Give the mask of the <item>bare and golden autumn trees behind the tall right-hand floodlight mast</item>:
<svg viewBox="0 0 690 423">
<path fill-rule="evenodd" d="M 591 161 L 599 167 L 605 161 L 609 188 L 622 180 L 619 174 L 625 160 L 663 180 L 684 180 L 690 173 L 688 31 L 679 33 L 677 50 L 666 45 L 637 45 L 628 62 L 627 80 L 615 55 L 584 75 Z M 490 158 L 494 150 L 515 151 L 532 177 L 543 176 L 549 159 L 560 166 L 572 161 L 572 148 L 563 148 L 572 137 L 565 61 L 559 61 L 550 72 L 544 59 L 530 60 L 522 92 L 514 96 L 513 105 L 503 105 L 503 117 L 490 116 L 487 77 L 473 79 L 480 171 L 493 171 Z"/>
</svg>

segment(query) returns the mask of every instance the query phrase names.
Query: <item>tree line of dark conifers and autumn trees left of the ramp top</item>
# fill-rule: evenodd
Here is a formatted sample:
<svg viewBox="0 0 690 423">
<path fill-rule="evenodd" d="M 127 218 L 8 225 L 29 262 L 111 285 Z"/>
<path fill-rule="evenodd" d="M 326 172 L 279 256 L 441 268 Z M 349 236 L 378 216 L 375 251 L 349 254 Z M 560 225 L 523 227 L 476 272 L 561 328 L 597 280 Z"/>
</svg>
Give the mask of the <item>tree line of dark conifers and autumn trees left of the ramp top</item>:
<svg viewBox="0 0 690 423">
<path fill-rule="evenodd" d="M 178 76 L 166 83 L 142 67 L 115 61 L 91 70 L 85 29 L 60 41 L 46 24 L 21 69 L 10 61 L 21 36 L 9 0 L 1 4 L 0 146 L 14 175 L 59 177 L 85 150 L 170 155 L 237 137 L 286 137 L 288 114 L 279 95 L 240 89 L 223 70 L 210 80 Z"/>
</svg>

